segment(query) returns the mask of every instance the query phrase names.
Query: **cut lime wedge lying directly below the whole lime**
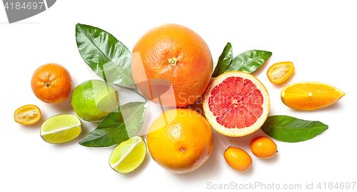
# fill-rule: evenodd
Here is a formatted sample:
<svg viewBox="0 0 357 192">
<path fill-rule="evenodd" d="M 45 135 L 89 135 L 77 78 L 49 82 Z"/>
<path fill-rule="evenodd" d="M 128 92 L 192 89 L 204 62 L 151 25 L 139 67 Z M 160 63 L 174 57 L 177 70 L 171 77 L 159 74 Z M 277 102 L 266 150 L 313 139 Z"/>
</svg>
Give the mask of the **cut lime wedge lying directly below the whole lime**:
<svg viewBox="0 0 357 192">
<path fill-rule="evenodd" d="M 61 114 L 48 118 L 41 126 L 40 135 L 48 143 L 66 143 L 77 138 L 82 131 L 77 116 Z"/>
</svg>

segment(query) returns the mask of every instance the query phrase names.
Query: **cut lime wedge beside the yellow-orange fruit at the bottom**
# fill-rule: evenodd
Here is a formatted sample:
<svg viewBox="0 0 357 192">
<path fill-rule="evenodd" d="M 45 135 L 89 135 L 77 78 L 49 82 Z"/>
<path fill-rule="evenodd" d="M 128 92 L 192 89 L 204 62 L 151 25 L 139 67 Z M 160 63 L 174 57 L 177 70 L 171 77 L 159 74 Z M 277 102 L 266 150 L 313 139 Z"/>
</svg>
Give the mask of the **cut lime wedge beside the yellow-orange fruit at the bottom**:
<svg viewBox="0 0 357 192">
<path fill-rule="evenodd" d="M 145 155 L 145 141 L 139 136 L 134 136 L 114 148 L 109 165 L 118 173 L 130 173 L 143 163 Z"/>
</svg>

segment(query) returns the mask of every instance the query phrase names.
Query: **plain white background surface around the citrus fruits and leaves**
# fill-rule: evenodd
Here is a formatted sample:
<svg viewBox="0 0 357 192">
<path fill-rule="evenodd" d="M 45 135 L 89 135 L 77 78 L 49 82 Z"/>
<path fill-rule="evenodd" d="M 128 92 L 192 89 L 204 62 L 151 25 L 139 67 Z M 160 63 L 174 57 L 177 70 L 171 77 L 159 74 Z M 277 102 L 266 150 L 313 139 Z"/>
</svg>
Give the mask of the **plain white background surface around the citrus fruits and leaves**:
<svg viewBox="0 0 357 192">
<path fill-rule="evenodd" d="M 296 191 L 305 191 L 306 183 L 318 189 L 319 182 L 327 182 L 326 188 L 328 182 L 333 186 L 336 182 L 356 182 L 356 7 L 356 1 L 62 0 L 14 24 L 8 24 L 4 8 L 0 7 L 0 191 L 217 191 L 209 188 L 256 182 L 266 184 L 266 188 L 301 184 L 302 189 Z M 75 113 L 69 100 L 51 105 L 34 96 L 30 79 L 37 67 L 51 62 L 61 64 L 69 70 L 75 85 L 99 79 L 79 55 L 77 23 L 109 31 L 129 50 L 149 29 L 167 23 L 181 24 L 205 39 L 215 66 L 227 42 L 233 46 L 233 56 L 250 49 L 271 51 L 271 59 L 253 72 L 270 94 L 269 115 L 318 120 L 329 128 L 309 141 L 276 141 L 278 154 L 269 160 L 256 158 L 249 149 L 254 137 L 265 135 L 263 131 L 242 138 L 213 131 L 211 156 L 196 171 L 170 173 L 147 153 L 144 163 L 134 172 L 116 173 L 108 163 L 114 146 L 87 148 L 78 144 L 97 123 L 82 121 L 83 133 L 70 143 L 53 145 L 39 136 L 39 127 L 46 118 Z M 283 84 L 271 84 L 266 71 L 280 61 L 292 61 L 296 71 Z M 296 111 L 281 102 L 280 91 L 299 81 L 331 84 L 346 96 L 327 108 Z M 121 103 L 142 101 L 129 91 L 119 93 Z M 39 123 L 22 126 L 12 115 L 16 108 L 29 103 L 39 106 L 43 116 Z M 138 135 L 146 138 L 147 128 L 159 113 L 160 107 L 149 103 Z M 228 166 L 223 158 L 228 146 L 243 148 L 251 155 L 253 165 L 246 173 Z"/>
</svg>

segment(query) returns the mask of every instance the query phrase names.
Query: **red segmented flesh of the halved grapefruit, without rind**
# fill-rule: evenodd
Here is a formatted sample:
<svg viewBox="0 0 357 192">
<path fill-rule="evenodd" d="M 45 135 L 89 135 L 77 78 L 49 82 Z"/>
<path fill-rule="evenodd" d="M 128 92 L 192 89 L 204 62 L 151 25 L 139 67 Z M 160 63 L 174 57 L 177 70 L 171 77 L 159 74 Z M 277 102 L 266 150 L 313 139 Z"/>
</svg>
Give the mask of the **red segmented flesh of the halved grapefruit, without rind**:
<svg viewBox="0 0 357 192">
<path fill-rule="evenodd" d="M 208 100 L 216 121 L 226 128 L 246 128 L 263 113 L 263 95 L 248 79 L 231 76 L 215 86 Z"/>
</svg>

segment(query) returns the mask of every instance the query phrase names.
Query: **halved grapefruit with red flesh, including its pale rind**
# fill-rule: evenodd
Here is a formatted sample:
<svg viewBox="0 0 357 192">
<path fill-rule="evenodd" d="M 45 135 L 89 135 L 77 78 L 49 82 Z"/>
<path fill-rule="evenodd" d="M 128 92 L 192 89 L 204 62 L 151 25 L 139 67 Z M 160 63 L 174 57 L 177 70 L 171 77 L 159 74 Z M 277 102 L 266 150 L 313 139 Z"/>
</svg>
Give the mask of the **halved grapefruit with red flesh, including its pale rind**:
<svg viewBox="0 0 357 192">
<path fill-rule="evenodd" d="M 203 95 L 203 111 L 211 126 L 226 136 L 258 130 L 269 113 L 269 95 L 255 76 L 229 71 L 216 77 Z"/>
</svg>

